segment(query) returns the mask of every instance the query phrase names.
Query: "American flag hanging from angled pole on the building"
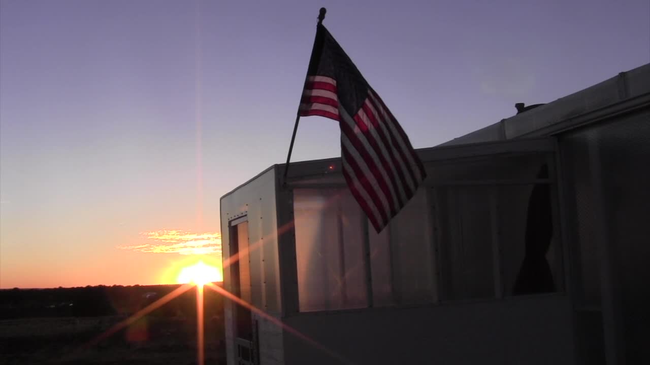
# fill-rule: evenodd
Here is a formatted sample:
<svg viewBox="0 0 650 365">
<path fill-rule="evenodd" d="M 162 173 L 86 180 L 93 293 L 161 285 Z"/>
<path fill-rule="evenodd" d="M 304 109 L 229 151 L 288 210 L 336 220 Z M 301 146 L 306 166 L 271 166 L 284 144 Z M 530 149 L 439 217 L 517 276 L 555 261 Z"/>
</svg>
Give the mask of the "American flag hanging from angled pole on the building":
<svg viewBox="0 0 650 365">
<path fill-rule="evenodd" d="M 426 177 L 404 129 L 350 57 L 318 24 L 300 116 L 339 121 L 343 176 L 377 232 Z"/>
</svg>

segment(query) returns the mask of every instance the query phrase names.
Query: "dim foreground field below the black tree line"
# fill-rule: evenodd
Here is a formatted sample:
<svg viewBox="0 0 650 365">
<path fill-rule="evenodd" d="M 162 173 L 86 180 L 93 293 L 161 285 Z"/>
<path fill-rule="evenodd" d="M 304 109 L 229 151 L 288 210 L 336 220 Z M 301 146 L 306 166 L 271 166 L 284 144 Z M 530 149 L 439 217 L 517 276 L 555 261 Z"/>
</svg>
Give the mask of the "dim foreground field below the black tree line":
<svg viewBox="0 0 650 365">
<path fill-rule="evenodd" d="M 143 318 L 85 348 L 122 318 L 0 321 L 0 364 L 196 364 L 194 319 Z M 220 323 L 205 323 L 205 364 L 224 363 Z"/>
</svg>

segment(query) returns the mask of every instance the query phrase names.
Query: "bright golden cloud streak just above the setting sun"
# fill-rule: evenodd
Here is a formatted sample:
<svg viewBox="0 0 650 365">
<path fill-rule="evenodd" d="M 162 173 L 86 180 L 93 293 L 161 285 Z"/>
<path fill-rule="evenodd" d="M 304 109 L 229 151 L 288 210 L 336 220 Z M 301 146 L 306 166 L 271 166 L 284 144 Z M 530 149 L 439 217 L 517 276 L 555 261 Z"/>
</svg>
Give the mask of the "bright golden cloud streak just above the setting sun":
<svg viewBox="0 0 650 365">
<path fill-rule="evenodd" d="M 181 255 L 221 255 L 221 234 L 165 230 L 143 232 L 146 243 L 118 246 L 119 249 L 145 253 L 179 253 Z"/>
</svg>

